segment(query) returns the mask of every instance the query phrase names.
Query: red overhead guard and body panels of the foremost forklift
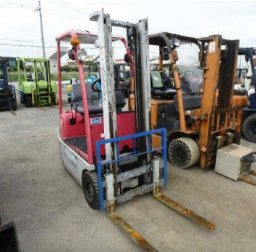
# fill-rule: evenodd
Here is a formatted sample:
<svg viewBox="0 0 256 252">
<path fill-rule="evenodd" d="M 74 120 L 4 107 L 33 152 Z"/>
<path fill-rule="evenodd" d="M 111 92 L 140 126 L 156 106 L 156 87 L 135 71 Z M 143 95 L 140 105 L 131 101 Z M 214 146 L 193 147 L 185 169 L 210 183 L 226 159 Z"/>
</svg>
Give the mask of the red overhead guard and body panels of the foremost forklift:
<svg viewBox="0 0 256 252">
<path fill-rule="evenodd" d="M 89 121 L 91 121 L 92 116 L 89 115 L 89 111 L 88 111 L 87 92 L 86 92 L 85 81 L 84 81 L 86 79 L 86 76 L 84 73 L 84 63 L 77 59 L 77 51 L 80 49 L 79 44 L 73 45 L 72 51 L 78 66 L 79 80 L 80 80 L 81 93 L 82 93 L 82 105 L 84 108 L 84 116 L 82 117 L 81 115 L 77 115 L 76 123 L 74 125 L 71 125 L 70 119 L 72 118 L 72 114 L 71 112 L 63 112 L 63 106 L 62 106 L 63 104 L 62 104 L 60 45 L 61 45 L 61 41 L 68 42 L 68 41 L 71 41 L 72 39 L 77 39 L 77 38 L 81 43 L 94 44 L 97 39 L 97 36 L 94 34 L 91 34 L 88 31 L 71 30 L 61 34 L 56 39 L 57 40 L 57 63 L 58 63 L 57 65 L 58 65 L 59 116 L 61 120 L 60 135 L 61 135 L 61 138 L 63 139 L 69 138 L 69 137 L 86 135 L 85 141 L 86 141 L 88 153 L 86 154 L 82 153 L 81 156 L 85 157 L 85 159 L 89 164 L 93 164 L 94 162 L 93 159 L 95 156 L 95 142 L 98 139 L 101 139 L 101 134 L 103 133 L 103 125 L 101 126 L 96 124 L 91 125 L 89 123 Z M 117 40 L 120 40 L 124 44 L 124 47 L 126 48 L 128 55 L 130 55 L 131 57 L 131 53 L 130 53 L 130 50 L 128 49 L 126 40 L 118 36 L 112 37 L 112 41 L 117 41 Z M 133 64 L 133 60 L 131 60 L 132 73 L 133 73 L 133 68 L 134 68 L 134 64 Z M 122 121 L 122 126 L 121 126 L 121 121 Z M 135 133 L 135 115 L 134 114 L 133 115 L 125 115 L 125 114 L 117 115 L 117 122 L 120 125 L 120 129 L 118 129 L 118 135 L 121 136 L 121 135 Z M 118 125 L 117 125 L 117 128 L 119 128 Z M 92 134 L 94 136 L 92 136 Z M 125 145 L 125 143 L 120 144 L 121 148 L 123 145 Z M 77 150 L 75 151 L 78 152 Z"/>
</svg>

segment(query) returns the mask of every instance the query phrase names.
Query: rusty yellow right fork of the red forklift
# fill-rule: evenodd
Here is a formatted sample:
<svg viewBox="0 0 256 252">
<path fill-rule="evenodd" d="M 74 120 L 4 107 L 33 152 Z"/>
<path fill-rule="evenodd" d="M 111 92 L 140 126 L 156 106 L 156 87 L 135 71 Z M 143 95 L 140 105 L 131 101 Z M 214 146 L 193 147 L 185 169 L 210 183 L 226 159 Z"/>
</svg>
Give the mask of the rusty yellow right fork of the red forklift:
<svg viewBox="0 0 256 252">
<path fill-rule="evenodd" d="M 208 228 L 208 229 L 215 229 L 216 226 L 214 223 L 211 223 L 210 221 L 202 218 L 201 216 L 197 215 L 196 213 L 194 213 L 193 211 L 183 207 L 182 205 L 180 205 L 179 203 L 177 203 L 176 201 L 170 199 L 169 197 L 166 197 L 164 194 L 162 193 L 157 193 L 155 195 L 155 198 L 157 200 L 159 200 L 160 202 L 162 202 L 163 204 L 165 204 L 166 206 L 170 207 L 171 209 L 173 209 L 174 211 L 176 211 L 177 213 L 185 216 L 186 218 Z"/>
</svg>

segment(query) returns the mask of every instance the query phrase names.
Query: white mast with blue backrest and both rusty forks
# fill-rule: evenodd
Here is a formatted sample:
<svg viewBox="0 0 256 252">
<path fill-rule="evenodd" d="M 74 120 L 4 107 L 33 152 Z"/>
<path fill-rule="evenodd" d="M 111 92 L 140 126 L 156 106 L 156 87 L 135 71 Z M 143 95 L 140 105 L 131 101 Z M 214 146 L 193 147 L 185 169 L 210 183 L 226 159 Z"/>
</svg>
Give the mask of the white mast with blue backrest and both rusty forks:
<svg viewBox="0 0 256 252">
<path fill-rule="evenodd" d="M 96 142 L 100 208 L 104 208 L 103 184 L 105 184 L 106 209 L 109 217 L 145 251 L 156 251 L 156 249 L 116 212 L 116 203 L 122 203 L 136 195 L 152 191 L 155 199 L 164 205 L 208 229 L 215 229 L 213 223 L 186 209 L 161 192 L 161 186 L 167 185 L 166 133 L 163 128 L 149 130 L 151 90 L 147 19 L 140 20 L 135 24 L 112 20 L 109 15 L 104 14 L 103 10 L 93 13 L 90 19 L 98 22 L 96 46 L 99 48 L 101 63 L 104 139 Z M 128 50 L 125 58 L 132 65 L 131 69 L 136 69 L 134 72 L 132 70 L 134 75 L 135 111 L 128 112 L 135 113 L 136 132 L 125 136 L 118 136 L 117 134 L 117 129 L 124 127 L 123 124 L 127 122 L 120 120 L 118 122 L 116 114 L 112 27 L 126 29 Z M 152 147 L 153 134 L 161 134 L 160 148 Z M 120 154 L 119 144 L 127 139 L 133 141 L 133 149 L 128 153 Z M 105 148 L 105 157 L 101 156 L 100 150 L 102 147 Z M 155 156 L 156 152 L 161 153 L 162 161 Z M 126 169 L 123 169 L 122 162 L 125 160 L 127 161 L 125 163 Z M 102 176 L 104 166 L 107 166 L 107 171 L 104 172 L 105 183 Z M 134 178 L 138 181 L 138 186 L 126 192 L 121 192 L 118 184 L 120 182 L 131 183 L 131 179 Z"/>
</svg>

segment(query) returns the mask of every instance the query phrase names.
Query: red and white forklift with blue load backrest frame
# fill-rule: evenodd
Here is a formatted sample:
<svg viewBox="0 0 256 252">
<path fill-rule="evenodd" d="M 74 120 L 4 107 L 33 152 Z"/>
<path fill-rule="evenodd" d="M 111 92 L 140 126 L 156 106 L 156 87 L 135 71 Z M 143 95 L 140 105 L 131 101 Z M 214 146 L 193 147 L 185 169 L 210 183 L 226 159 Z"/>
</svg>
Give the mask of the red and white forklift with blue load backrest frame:
<svg viewBox="0 0 256 252">
<path fill-rule="evenodd" d="M 68 31 L 57 37 L 59 117 L 57 131 L 61 160 L 67 171 L 83 187 L 93 209 L 106 209 L 108 216 L 146 251 L 157 251 L 116 212 L 116 205 L 135 196 L 153 192 L 155 199 L 208 229 L 215 225 L 165 196 L 167 153 L 165 129 L 150 130 L 150 71 L 148 23 L 112 20 L 103 10 L 93 13 L 98 35 L 88 31 Z M 112 27 L 122 27 L 126 39 L 112 36 Z M 131 66 L 135 88 L 135 109 L 125 111 L 123 92 L 115 90 L 112 43 L 120 40 Z M 70 42 L 69 57 L 78 66 L 79 81 L 72 85 L 70 108 L 64 110 L 61 86 L 61 42 Z M 83 44 L 99 49 L 100 79 L 85 83 Z M 152 146 L 152 135 L 161 135 L 161 145 Z M 161 153 L 161 157 L 157 153 Z"/>
</svg>

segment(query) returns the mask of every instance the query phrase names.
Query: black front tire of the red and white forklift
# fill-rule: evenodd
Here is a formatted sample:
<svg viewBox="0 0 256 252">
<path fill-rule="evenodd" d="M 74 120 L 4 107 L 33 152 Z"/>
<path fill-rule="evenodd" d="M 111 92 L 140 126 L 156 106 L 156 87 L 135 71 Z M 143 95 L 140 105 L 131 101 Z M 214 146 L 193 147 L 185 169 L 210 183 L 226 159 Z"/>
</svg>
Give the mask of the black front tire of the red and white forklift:
<svg viewBox="0 0 256 252">
<path fill-rule="evenodd" d="M 100 208 L 100 194 L 95 172 L 84 172 L 82 176 L 84 197 L 92 209 Z"/>
</svg>

